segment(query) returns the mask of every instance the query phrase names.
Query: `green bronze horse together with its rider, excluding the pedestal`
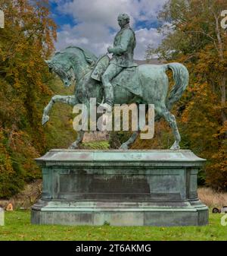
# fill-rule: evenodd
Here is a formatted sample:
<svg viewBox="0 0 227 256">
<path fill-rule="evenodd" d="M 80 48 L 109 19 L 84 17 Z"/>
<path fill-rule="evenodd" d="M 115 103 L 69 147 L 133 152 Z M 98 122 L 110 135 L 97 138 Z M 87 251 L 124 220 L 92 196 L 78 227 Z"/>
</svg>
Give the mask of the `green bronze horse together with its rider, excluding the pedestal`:
<svg viewBox="0 0 227 256">
<path fill-rule="evenodd" d="M 69 46 L 46 61 L 50 71 L 58 74 L 65 87 L 70 87 L 76 80 L 76 90 L 74 95 L 53 96 L 43 111 L 42 124 L 48 122 L 48 114 L 54 103 L 67 103 L 70 106 L 84 104 L 89 109 L 90 99 L 95 98 L 97 107 L 101 106 L 107 112 L 111 112 L 114 104 L 153 104 L 155 121 L 163 118 L 169 123 L 175 137 L 171 149 L 179 150 L 181 137 L 175 116 L 170 111 L 188 86 L 188 70 L 180 63 L 137 67 L 133 62 L 136 43 L 135 33 L 129 27 L 129 15 L 120 14 L 118 24 L 121 29 L 114 38 L 113 47 L 107 48 L 113 54 L 110 60 L 107 56 L 98 59 L 87 49 Z M 175 84 L 168 93 L 166 71 L 169 69 L 173 71 Z M 135 131 L 120 149 L 129 149 L 139 132 Z M 83 130 L 79 131 L 76 141 L 70 145 L 71 149 L 79 148 L 83 134 Z"/>
</svg>

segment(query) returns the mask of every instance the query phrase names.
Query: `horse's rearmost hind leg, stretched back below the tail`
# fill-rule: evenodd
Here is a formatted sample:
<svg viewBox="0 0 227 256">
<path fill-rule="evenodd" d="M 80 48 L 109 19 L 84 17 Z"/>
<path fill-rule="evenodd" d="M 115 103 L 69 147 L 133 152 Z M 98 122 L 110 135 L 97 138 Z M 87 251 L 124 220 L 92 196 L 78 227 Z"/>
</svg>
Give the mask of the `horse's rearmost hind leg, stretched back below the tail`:
<svg viewBox="0 0 227 256">
<path fill-rule="evenodd" d="M 157 115 L 162 115 L 164 119 L 169 123 L 170 127 L 173 130 L 173 134 L 175 137 L 175 141 L 172 147 L 170 147 L 170 150 L 179 150 L 179 142 L 181 141 L 181 136 L 179 134 L 178 127 L 176 125 L 176 119 L 175 116 L 172 115 L 166 107 L 163 108 L 156 108 Z"/>
</svg>

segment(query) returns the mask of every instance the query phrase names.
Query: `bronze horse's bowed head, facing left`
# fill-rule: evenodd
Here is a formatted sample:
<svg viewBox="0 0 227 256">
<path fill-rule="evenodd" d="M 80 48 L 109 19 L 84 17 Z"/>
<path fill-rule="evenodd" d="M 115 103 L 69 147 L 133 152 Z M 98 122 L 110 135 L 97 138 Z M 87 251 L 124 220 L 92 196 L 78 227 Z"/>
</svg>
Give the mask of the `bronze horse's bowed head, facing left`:
<svg viewBox="0 0 227 256">
<path fill-rule="evenodd" d="M 73 82 L 72 64 L 64 53 L 57 52 L 53 58 L 45 61 L 48 64 L 49 71 L 55 72 L 61 78 L 65 87 L 70 87 Z"/>
</svg>

